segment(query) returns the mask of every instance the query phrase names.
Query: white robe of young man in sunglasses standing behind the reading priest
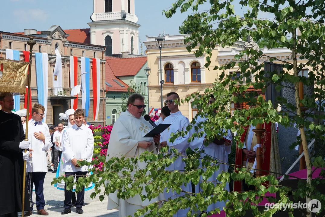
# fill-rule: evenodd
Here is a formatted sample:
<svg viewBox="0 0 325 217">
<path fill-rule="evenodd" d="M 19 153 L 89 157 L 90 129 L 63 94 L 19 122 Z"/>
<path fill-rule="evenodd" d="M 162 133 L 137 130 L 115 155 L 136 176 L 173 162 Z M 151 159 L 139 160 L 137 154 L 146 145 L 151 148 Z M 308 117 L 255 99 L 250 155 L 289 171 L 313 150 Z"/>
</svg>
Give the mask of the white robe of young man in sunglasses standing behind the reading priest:
<svg viewBox="0 0 325 217">
<path fill-rule="evenodd" d="M 186 127 L 189 125 L 188 118 L 182 115 L 180 111 L 171 113 L 168 117 L 164 119 L 162 122 L 163 124 L 171 124 L 167 129 L 165 129 L 160 137 L 160 142 L 167 141 L 167 145 L 169 148 L 177 149 L 179 152 L 182 153 L 182 155 L 186 156 L 186 149 L 189 146 L 188 138 L 189 133 L 186 134 L 184 137 L 178 137 L 173 143 L 169 141 L 170 134 L 176 133 L 177 131 L 186 130 Z M 182 161 L 183 157 L 179 156 L 174 163 L 172 163 L 169 167 L 166 168 L 166 170 L 178 170 L 180 172 L 184 171 L 185 163 Z M 182 185 L 181 188 L 184 191 L 192 192 L 191 183 L 188 183 L 186 186 Z M 177 193 L 174 193 L 172 191 L 169 191 L 169 193 L 165 192 L 165 199 L 171 198 L 175 199 L 178 196 L 182 196 L 184 193 L 181 193 L 178 195 Z M 185 210 L 178 210 L 177 214 L 174 215 L 174 217 L 184 217 L 186 216 L 188 209 Z"/>
</svg>

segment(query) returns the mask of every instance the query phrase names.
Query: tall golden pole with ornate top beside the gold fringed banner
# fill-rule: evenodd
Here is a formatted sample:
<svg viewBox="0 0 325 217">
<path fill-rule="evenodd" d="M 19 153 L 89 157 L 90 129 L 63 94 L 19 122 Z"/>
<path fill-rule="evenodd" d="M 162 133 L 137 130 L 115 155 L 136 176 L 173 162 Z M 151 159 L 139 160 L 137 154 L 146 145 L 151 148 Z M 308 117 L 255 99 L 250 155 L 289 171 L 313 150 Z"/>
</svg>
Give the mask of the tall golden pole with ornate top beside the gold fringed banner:
<svg viewBox="0 0 325 217">
<path fill-rule="evenodd" d="M 27 113 L 26 113 L 26 133 L 25 133 L 25 141 L 28 141 L 28 118 L 29 118 L 29 97 L 31 94 L 31 80 L 32 80 L 32 53 L 33 53 L 33 46 L 36 42 L 33 40 L 33 37 L 27 41 L 29 45 L 29 72 L 28 72 L 28 89 L 27 89 Z M 25 153 L 27 150 L 25 149 Z M 24 210 L 25 210 L 25 185 L 26 185 L 26 161 L 24 161 L 24 174 L 23 174 L 23 181 L 22 181 L 22 209 L 21 209 L 21 216 L 24 217 Z"/>
</svg>

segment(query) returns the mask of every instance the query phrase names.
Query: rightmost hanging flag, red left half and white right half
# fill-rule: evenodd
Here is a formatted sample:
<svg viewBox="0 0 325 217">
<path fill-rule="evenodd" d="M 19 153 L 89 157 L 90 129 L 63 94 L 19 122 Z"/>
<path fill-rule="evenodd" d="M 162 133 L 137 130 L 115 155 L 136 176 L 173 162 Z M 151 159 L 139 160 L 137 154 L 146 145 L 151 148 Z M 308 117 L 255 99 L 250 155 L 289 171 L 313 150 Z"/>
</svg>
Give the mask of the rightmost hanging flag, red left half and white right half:
<svg viewBox="0 0 325 217">
<path fill-rule="evenodd" d="M 97 58 L 93 58 L 93 95 L 93 112 L 95 121 L 98 118 L 100 101 L 100 60 Z"/>
</svg>

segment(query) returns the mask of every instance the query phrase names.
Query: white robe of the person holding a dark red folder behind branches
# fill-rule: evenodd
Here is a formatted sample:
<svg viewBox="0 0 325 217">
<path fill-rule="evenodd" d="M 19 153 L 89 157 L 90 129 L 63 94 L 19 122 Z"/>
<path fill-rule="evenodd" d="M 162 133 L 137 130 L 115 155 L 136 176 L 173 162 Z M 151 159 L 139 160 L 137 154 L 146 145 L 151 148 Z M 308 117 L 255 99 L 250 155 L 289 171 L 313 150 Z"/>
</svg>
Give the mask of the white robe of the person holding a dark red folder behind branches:
<svg viewBox="0 0 325 217">
<path fill-rule="evenodd" d="M 207 118 L 206 117 L 201 117 L 199 116 L 196 120 L 196 123 L 198 124 L 199 122 L 204 122 L 206 121 Z M 196 124 L 196 125 L 197 125 Z M 194 127 L 192 127 L 191 129 L 191 133 L 193 133 L 195 131 Z M 200 131 L 204 131 L 204 128 L 202 127 Z M 225 129 L 223 129 L 223 132 L 225 131 Z M 204 150 L 204 153 L 201 153 L 201 158 L 204 158 L 205 155 L 209 155 L 215 159 L 218 159 L 219 162 L 221 163 L 228 163 L 228 154 L 230 154 L 231 152 L 231 146 L 225 146 L 223 145 L 217 145 L 214 142 L 210 142 L 208 146 L 205 147 L 205 145 L 203 144 L 204 141 L 204 136 L 206 134 L 204 133 L 202 135 L 202 137 L 198 138 L 194 138 L 193 141 L 190 142 L 189 147 L 194 151 L 195 149 L 198 149 L 198 151 Z M 232 141 L 232 135 L 230 130 L 227 130 L 227 136 L 224 137 L 228 140 Z M 201 160 L 200 160 L 200 166 L 201 166 Z M 221 171 L 228 171 L 229 165 L 228 164 L 219 164 L 219 170 L 215 171 L 213 173 L 213 175 L 208 178 L 209 182 L 215 182 L 218 175 L 221 173 Z M 203 168 L 204 169 L 204 168 Z M 204 169 L 206 170 L 206 169 Z M 195 192 L 201 192 L 201 187 L 200 187 L 200 183 L 202 182 L 202 176 L 200 177 L 200 182 L 199 184 L 197 184 L 195 186 Z M 226 184 L 226 190 L 229 191 L 229 183 Z M 206 211 L 212 211 L 215 210 L 216 208 L 219 208 L 220 211 L 222 211 L 222 207 L 226 206 L 226 202 L 225 201 L 218 201 L 216 203 L 210 204 L 207 207 Z"/>
</svg>

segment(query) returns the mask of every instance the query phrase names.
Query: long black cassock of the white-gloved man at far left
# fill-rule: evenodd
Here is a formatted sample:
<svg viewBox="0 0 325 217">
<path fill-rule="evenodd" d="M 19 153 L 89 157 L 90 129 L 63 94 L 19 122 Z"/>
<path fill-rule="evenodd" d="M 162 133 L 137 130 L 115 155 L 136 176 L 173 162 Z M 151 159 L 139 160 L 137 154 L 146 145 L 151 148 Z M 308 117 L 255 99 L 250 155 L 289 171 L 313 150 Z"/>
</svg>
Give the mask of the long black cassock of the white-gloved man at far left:
<svg viewBox="0 0 325 217">
<path fill-rule="evenodd" d="M 21 211 L 24 159 L 19 142 L 25 139 L 21 118 L 0 110 L 0 215 Z M 27 188 L 25 211 L 30 210 Z"/>
</svg>

